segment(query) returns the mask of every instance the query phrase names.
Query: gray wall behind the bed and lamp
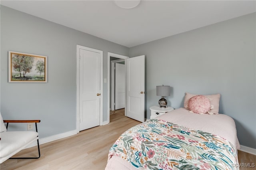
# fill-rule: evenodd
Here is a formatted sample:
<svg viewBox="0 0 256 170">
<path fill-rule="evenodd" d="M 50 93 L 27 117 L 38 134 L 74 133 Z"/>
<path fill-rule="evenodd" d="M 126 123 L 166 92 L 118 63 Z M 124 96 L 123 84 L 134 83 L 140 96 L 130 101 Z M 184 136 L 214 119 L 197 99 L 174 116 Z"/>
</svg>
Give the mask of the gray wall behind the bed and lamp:
<svg viewBox="0 0 256 170">
<path fill-rule="evenodd" d="M 130 48 L 146 55 L 146 108 L 157 105 L 156 85 L 183 107 L 184 93 L 220 93 L 220 113 L 236 122 L 240 144 L 256 148 L 256 13 Z M 216 122 L 218 123 L 218 122 Z"/>
</svg>

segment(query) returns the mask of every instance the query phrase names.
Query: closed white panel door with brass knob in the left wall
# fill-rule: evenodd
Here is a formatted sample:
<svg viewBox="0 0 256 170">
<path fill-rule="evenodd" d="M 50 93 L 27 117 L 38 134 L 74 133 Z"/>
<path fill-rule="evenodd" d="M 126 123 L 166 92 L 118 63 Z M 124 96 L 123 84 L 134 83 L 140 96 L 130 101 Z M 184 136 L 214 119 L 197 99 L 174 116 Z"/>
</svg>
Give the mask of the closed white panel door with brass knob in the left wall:
<svg viewBox="0 0 256 170">
<path fill-rule="evenodd" d="M 102 58 L 100 50 L 79 49 L 79 131 L 100 125 L 102 112 Z"/>
</svg>

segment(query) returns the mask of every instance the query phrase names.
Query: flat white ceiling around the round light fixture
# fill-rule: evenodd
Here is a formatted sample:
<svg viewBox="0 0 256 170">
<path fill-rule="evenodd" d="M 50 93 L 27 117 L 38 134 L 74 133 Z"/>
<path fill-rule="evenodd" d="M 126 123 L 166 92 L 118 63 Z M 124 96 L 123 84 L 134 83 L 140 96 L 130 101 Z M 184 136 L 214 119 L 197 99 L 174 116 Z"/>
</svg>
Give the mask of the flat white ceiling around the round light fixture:
<svg viewBox="0 0 256 170">
<path fill-rule="evenodd" d="M 112 0 L 1 0 L 4 6 L 133 47 L 256 12 L 250 0 L 142 0 L 133 9 Z"/>
</svg>

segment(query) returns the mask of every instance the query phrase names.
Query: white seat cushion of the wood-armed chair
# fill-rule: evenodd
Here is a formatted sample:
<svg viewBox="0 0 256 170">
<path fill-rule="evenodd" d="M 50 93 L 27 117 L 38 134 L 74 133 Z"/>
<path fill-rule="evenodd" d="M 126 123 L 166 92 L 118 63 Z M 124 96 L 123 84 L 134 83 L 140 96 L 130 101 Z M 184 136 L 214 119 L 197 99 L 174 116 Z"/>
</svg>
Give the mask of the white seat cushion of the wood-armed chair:
<svg viewBox="0 0 256 170">
<path fill-rule="evenodd" d="M 9 131 L 0 133 L 0 158 L 14 155 L 24 149 L 32 141 L 38 139 L 35 131 Z"/>
</svg>

